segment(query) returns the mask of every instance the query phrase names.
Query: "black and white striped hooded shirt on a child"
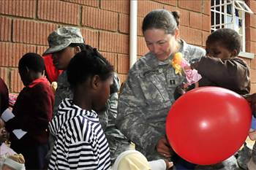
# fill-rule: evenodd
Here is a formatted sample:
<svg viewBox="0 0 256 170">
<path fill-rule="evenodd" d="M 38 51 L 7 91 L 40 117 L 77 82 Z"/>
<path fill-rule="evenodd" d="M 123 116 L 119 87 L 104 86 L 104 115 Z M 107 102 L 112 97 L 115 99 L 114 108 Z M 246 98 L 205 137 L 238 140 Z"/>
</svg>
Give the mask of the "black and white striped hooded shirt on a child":
<svg viewBox="0 0 256 170">
<path fill-rule="evenodd" d="M 48 169 L 110 169 L 108 141 L 96 112 L 66 98 L 49 128 L 56 140 Z"/>
</svg>

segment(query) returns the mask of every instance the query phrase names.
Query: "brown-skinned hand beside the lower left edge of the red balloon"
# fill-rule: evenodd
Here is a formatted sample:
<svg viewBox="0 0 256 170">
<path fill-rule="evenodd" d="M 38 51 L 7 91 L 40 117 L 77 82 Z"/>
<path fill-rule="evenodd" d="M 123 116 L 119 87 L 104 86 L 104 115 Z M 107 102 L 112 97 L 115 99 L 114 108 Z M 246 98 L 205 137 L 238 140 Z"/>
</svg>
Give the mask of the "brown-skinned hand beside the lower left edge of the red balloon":
<svg viewBox="0 0 256 170">
<path fill-rule="evenodd" d="M 163 155 L 165 158 L 170 158 L 171 148 L 170 148 L 170 144 L 167 142 L 167 139 L 165 137 L 163 137 L 162 139 L 159 139 L 159 141 L 157 142 L 156 149 L 160 155 Z"/>
</svg>

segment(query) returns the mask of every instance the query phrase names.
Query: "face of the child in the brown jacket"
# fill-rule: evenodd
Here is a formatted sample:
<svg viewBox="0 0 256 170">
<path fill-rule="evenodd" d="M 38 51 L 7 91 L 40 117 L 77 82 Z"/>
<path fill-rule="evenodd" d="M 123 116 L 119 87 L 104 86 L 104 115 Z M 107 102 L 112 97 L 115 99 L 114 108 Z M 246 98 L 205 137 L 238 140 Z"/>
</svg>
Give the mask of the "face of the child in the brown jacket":
<svg viewBox="0 0 256 170">
<path fill-rule="evenodd" d="M 214 42 L 206 45 L 206 55 L 213 58 L 227 59 L 236 57 L 236 51 L 228 50 L 221 42 Z"/>
</svg>

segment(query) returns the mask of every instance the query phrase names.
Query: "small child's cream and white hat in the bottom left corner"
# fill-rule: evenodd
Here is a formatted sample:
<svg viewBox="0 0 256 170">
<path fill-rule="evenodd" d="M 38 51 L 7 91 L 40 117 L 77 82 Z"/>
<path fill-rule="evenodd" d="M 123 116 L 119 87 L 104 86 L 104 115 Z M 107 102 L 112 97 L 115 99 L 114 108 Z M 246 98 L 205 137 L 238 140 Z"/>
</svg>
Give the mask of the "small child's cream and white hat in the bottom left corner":
<svg viewBox="0 0 256 170">
<path fill-rule="evenodd" d="M 24 163 L 25 160 L 23 155 L 10 155 L 8 158 L 5 159 L 2 170 L 25 170 Z"/>
</svg>

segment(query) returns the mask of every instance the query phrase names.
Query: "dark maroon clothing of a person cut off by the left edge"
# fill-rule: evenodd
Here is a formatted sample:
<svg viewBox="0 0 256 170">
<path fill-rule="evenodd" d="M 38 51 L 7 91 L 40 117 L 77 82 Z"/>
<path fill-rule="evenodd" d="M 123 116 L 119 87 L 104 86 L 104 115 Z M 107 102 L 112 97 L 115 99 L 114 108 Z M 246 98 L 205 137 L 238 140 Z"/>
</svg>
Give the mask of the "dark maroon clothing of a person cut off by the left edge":
<svg viewBox="0 0 256 170">
<path fill-rule="evenodd" d="M 0 77 L 0 115 L 7 109 L 9 106 L 9 96 L 8 96 L 8 88 L 4 83 L 4 80 Z"/>
</svg>

